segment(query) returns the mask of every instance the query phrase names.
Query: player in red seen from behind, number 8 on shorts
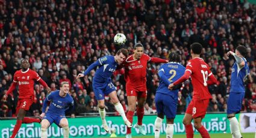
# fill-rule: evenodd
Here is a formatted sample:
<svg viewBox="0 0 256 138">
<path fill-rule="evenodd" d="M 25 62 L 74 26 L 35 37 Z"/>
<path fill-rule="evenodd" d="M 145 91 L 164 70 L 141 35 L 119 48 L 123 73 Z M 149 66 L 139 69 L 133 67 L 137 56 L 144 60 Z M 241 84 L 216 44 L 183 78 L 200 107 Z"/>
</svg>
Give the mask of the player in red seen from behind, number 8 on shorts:
<svg viewBox="0 0 256 138">
<path fill-rule="evenodd" d="M 210 137 L 208 131 L 202 126 L 202 118 L 206 114 L 209 100 L 211 99 L 211 94 L 208 91 L 207 85 L 212 83 L 217 83 L 216 78 L 211 73 L 208 65 L 203 59 L 199 58 L 202 50 L 202 45 L 199 43 L 193 43 L 191 45 L 191 55 L 192 59 L 187 63 L 186 71 L 184 75 L 169 85 L 169 89 L 173 86 L 178 85 L 181 82 L 189 79 L 191 76 L 193 85 L 193 98 L 187 107 L 183 124 L 186 128 L 186 135 L 188 138 L 193 137 L 193 127 L 191 121 L 194 119 L 194 127 L 199 131 L 203 138 Z M 211 80 L 207 83 L 207 80 Z"/>
</svg>

